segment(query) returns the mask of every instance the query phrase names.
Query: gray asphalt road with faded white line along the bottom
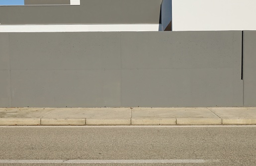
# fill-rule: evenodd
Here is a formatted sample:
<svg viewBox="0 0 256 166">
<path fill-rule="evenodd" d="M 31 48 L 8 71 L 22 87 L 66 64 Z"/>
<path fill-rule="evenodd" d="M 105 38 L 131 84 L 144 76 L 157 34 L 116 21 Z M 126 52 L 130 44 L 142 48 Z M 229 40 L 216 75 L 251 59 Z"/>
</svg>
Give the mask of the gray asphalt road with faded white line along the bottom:
<svg viewBox="0 0 256 166">
<path fill-rule="evenodd" d="M 256 166 L 256 126 L 0 126 L 0 166 Z"/>
</svg>

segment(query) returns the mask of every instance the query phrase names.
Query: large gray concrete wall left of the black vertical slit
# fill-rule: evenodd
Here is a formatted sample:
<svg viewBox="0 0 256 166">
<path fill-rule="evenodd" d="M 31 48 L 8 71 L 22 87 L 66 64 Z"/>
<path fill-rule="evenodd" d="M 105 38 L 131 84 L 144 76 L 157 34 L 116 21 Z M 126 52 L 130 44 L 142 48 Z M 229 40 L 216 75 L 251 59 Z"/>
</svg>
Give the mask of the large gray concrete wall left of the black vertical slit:
<svg viewBox="0 0 256 166">
<path fill-rule="evenodd" d="M 243 106 L 241 31 L 0 35 L 0 107 Z"/>
</svg>

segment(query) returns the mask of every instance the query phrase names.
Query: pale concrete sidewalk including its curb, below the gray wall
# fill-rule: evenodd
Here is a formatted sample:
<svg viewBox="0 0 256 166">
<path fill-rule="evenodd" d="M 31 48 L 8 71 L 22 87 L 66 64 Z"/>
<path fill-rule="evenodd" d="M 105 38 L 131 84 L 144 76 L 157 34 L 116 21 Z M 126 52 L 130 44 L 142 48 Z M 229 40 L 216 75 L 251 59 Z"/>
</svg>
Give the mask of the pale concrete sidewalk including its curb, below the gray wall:
<svg viewBox="0 0 256 166">
<path fill-rule="evenodd" d="M 0 125 L 256 124 L 256 108 L 0 108 Z"/>
</svg>

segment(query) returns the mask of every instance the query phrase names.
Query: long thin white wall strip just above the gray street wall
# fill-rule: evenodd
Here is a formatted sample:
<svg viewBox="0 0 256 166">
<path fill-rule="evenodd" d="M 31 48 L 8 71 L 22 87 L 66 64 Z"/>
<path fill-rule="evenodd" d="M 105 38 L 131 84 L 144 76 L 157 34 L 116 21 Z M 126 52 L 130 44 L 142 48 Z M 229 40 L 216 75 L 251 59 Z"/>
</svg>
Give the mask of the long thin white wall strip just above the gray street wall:
<svg viewBox="0 0 256 166">
<path fill-rule="evenodd" d="M 158 31 L 159 24 L 0 25 L 0 32 Z"/>
</svg>

